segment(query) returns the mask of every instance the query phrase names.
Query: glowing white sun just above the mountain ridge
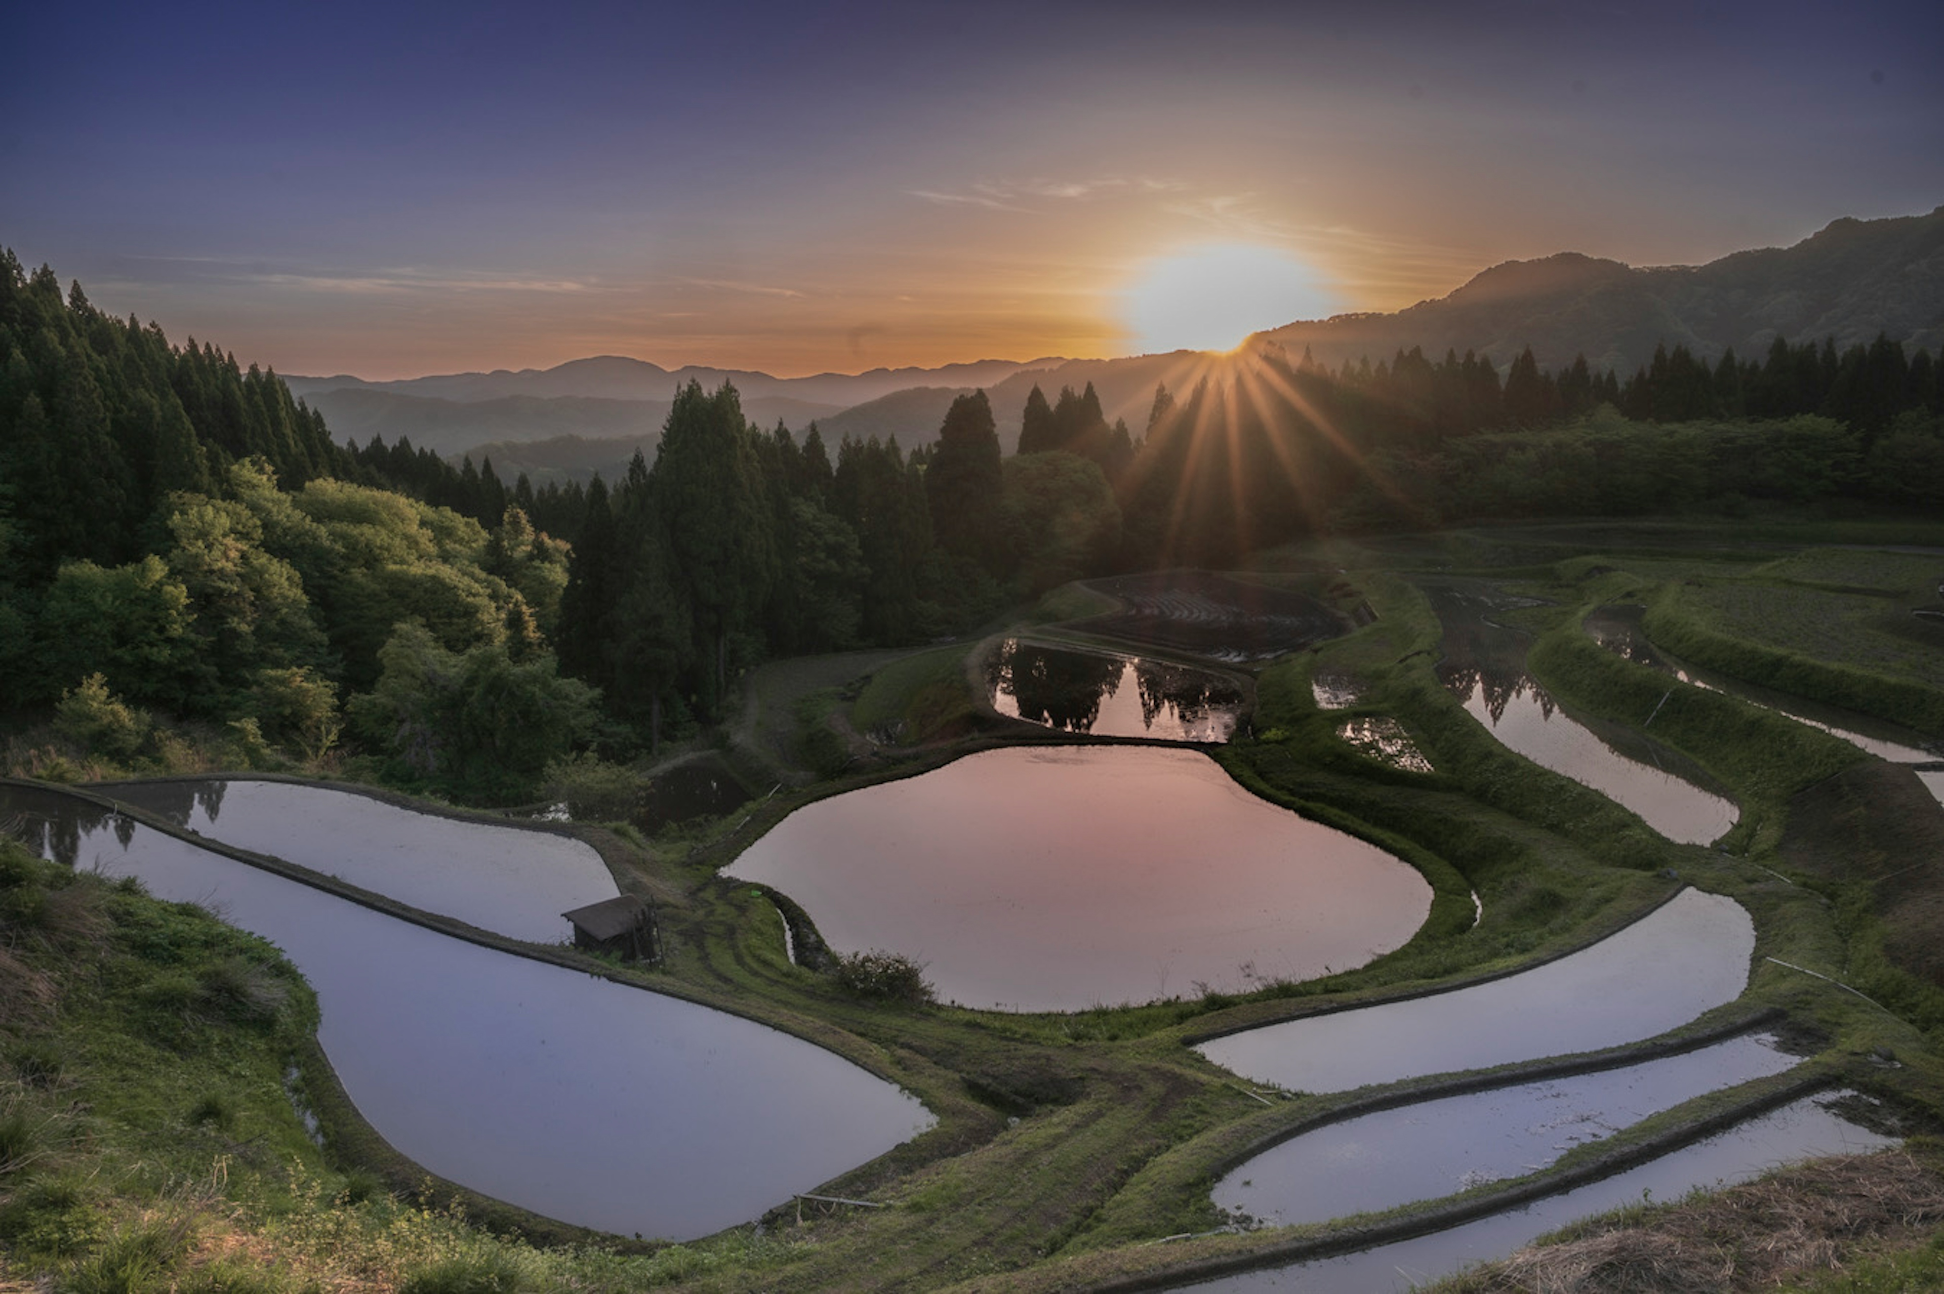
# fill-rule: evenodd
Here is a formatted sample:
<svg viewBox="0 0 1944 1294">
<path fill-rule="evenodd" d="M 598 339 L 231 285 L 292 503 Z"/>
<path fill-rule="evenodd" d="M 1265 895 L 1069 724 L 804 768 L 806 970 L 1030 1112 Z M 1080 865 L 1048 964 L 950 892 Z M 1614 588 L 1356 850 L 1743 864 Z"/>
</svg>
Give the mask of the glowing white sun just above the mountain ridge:
<svg viewBox="0 0 1944 1294">
<path fill-rule="evenodd" d="M 1250 332 L 1322 319 L 1334 307 L 1316 270 L 1252 243 L 1151 260 L 1122 297 L 1122 323 L 1143 354 L 1234 350 Z"/>
</svg>

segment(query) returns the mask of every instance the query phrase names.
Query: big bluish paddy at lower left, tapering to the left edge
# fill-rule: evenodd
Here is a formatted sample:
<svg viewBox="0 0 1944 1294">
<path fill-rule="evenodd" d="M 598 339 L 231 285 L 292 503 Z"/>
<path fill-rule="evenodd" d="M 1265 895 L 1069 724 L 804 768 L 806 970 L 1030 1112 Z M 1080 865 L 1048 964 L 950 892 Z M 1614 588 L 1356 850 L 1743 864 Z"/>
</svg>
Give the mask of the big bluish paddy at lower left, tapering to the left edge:
<svg viewBox="0 0 1944 1294">
<path fill-rule="evenodd" d="M 12 814 L 43 855 L 138 876 L 278 944 L 385 1141 L 550 1218 L 706 1236 L 931 1121 L 892 1084 L 752 1020 L 437 935 L 70 797 L 0 787 Z"/>
</svg>

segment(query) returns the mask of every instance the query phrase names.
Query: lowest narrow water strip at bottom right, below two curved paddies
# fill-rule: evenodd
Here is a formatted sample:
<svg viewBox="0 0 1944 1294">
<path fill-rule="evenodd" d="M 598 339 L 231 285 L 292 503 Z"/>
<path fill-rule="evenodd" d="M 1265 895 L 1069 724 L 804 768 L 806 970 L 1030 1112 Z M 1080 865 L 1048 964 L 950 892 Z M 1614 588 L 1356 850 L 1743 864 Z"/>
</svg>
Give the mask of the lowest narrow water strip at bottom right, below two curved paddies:
<svg viewBox="0 0 1944 1294">
<path fill-rule="evenodd" d="M 1279 1294 L 1404 1294 L 1472 1263 L 1503 1259 L 1575 1218 L 1621 1205 L 1639 1205 L 1643 1199 L 1680 1199 L 1695 1187 L 1748 1181 L 1794 1160 L 1822 1154 L 1860 1154 L 1895 1144 L 1893 1139 L 1870 1133 L 1833 1113 L 1825 1107 L 1827 1102 L 1827 1096 L 1792 1102 L 1623 1174 L 1444 1232 L 1339 1259 L 1252 1271 L 1176 1288 L 1194 1294 L 1262 1294 L 1269 1290 Z"/>
</svg>

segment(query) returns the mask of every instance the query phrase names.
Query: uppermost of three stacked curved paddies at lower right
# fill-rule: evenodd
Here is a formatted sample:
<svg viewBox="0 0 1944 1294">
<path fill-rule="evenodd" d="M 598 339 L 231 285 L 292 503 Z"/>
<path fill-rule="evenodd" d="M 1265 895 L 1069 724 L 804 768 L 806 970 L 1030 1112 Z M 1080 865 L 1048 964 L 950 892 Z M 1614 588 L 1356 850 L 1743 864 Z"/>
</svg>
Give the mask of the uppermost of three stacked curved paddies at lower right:
<svg viewBox="0 0 1944 1294">
<path fill-rule="evenodd" d="M 1571 956 L 1466 989 L 1213 1038 L 1196 1049 L 1258 1082 L 1337 1092 L 1641 1041 L 1748 987 L 1755 923 L 1684 890 Z"/>
</svg>

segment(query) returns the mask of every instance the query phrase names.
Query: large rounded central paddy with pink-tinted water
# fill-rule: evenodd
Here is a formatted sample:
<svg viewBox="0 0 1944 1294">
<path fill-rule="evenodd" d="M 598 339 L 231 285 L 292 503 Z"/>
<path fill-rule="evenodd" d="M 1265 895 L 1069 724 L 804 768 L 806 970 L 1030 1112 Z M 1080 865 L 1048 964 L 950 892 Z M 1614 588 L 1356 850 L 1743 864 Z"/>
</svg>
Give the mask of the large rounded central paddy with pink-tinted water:
<svg viewBox="0 0 1944 1294">
<path fill-rule="evenodd" d="M 988 750 L 816 800 L 727 868 L 838 952 L 966 1006 L 1081 1010 L 1361 966 L 1431 909 L 1411 867 L 1159 746 Z"/>
</svg>

